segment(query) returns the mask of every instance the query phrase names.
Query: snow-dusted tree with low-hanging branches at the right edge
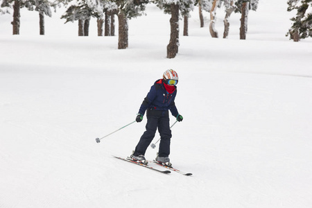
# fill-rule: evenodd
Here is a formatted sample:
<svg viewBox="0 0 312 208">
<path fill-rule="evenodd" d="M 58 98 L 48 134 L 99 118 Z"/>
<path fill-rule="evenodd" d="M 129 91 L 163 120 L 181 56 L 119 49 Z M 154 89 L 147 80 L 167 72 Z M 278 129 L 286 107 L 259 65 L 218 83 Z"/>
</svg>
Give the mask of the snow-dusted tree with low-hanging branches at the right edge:
<svg viewBox="0 0 312 208">
<path fill-rule="evenodd" d="M 297 15 L 291 18 L 293 25 L 286 36 L 290 35 L 294 42 L 312 37 L 312 0 L 288 0 L 287 3 L 288 11 L 297 10 Z"/>
</svg>

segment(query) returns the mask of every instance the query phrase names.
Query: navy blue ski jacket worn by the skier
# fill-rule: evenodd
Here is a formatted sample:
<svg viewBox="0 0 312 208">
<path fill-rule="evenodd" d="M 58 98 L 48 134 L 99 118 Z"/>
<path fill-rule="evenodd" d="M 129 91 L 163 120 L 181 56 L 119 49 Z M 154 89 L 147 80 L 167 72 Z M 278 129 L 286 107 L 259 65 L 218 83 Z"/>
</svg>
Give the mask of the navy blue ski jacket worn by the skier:
<svg viewBox="0 0 312 208">
<path fill-rule="evenodd" d="M 157 80 L 152 87 L 150 87 L 150 92 L 148 92 L 146 98 L 144 98 L 143 103 L 139 109 L 139 114 L 145 114 L 146 110 L 153 110 L 155 112 L 164 115 L 164 112 L 171 111 L 171 114 L 175 117 L 179 115 L 177 112 L 177 107 L 175 107 L 175 96 L 177 95 L 177 87 L 175 86 L 175 91 L 169 94 L 162 83 L 162 79 Z"/>
</svg>

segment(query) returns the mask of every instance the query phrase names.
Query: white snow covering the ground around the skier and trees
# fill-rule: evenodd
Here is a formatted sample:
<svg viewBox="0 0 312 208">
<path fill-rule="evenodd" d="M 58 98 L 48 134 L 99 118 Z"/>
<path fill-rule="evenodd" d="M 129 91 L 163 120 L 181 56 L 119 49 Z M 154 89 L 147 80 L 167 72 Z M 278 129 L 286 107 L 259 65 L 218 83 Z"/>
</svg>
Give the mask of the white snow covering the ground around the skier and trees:
<svg viewBox="0 0 312 208">
<path fill-rule="evenodd" d="M 174 59 L 166 58 L 170 15 L 153 5 L 130 19 L 125 50 L 118 37 L 96 36 L 96 19 L 78 37 L 78 23 L 64 24 L 58 10 L 39 36 L 37 12 L 23 9 L 21 35 L 12 36 L 12 16 L 1 15 L 0 207 L 311 207 L 312 41 L 285 37 L 286 8 L 260 1 L 247 40 L 239 14 L 223 40 L 210 37 L 207 12 L 200 28 L 196 9 Z M 223 32 L 220 9 L 217 17 Z M 170 157 L 191 177 L 112 157 L 132 153 L 146 117 L 95 142 L 135 121 L 170 68 L 184 116 Z"/>
</svg>

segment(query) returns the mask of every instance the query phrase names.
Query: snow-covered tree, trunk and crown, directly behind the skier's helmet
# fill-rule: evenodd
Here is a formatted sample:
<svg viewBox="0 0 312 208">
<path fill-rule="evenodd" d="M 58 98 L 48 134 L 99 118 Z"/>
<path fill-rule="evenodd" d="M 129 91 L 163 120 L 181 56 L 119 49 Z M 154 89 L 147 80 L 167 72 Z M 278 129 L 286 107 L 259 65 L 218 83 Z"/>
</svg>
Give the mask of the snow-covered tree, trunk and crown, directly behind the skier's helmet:
<svg viewBox="0 0 312 208">
<path fill-rule="evenodd" d="M 170 40 L 167 46 L 167 58 L 175 58 L 179 48 L 179 19 L 182 16 L 188 16 L 193 10 L 193 0 L 155 0 L 154 3 L 164 10 L 165 14 L 171 14 Z M 181 16 L 180 16 L 181 13 Z"/>
</svg>

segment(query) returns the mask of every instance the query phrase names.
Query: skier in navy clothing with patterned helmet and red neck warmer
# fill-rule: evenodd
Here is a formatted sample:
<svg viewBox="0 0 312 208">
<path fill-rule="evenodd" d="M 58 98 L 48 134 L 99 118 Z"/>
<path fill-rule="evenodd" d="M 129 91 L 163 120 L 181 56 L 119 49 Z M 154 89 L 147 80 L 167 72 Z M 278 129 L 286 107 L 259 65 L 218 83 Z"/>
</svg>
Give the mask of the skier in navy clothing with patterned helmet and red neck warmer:
<svg viewBox="0 0 312 208">
<path fill-rule="evenodd" d="M 163 78 L 157 80 L 148 92 L 146 98 L 137 114 L 136 121 L 141 122 L 146 112 L 147 123 L 146 131 L 141 136 L 135 151 L 130 156 L 134 160 L 138 160 L 147 164 L 144 157 L 146 149 L 155 137 L 155 132 L 158 128 L 160 135 L 159 152 L 156 161 L 159 163 L 171 166 L 170 154 L 170 141 L 171 129 L 169 124 L 169 113 L 175 116 L 177 121 L 182 121 L 183 117 L 177 112 L 175 107 L 175 96 L 177 94 L 177 85 L 179 78 L 173 69 L 168 69 L 164 72 Z"/>
</svg>

